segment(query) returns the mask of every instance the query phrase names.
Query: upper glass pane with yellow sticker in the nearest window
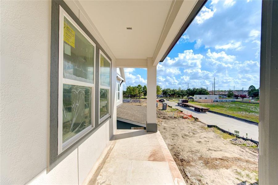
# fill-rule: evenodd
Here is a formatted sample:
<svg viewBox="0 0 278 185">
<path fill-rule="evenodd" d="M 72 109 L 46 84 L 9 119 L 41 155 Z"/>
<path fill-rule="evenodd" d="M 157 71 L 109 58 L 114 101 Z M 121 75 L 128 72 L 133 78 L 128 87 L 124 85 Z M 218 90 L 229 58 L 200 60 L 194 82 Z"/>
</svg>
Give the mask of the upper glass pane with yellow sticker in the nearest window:
<svg viewBox="0 0 278 185">
<path fill-rule="evenodd" d="M 63 77 L 93 84 L 94 46 L 64 17 Z"/>
</svg>

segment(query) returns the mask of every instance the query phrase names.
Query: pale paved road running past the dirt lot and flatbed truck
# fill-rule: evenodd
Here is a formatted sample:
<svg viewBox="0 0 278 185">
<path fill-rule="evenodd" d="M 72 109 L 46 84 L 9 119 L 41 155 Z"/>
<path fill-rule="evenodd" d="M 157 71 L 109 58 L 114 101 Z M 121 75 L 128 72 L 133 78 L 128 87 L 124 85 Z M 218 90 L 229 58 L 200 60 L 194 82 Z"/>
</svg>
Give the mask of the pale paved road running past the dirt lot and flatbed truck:
<svg viewBox="0 0 278 185">
<path fill-rule="evenodd" d="M 240 136 L 252 138 L 255 141 L 259 141 L 259 127 L 244 121 L 239 121 L 230 117 L 221 116 L 214 113 L 195 112 L 193 108 L 178 106 L 177 103 L 165 100 L 165 103 L 173 108 L 182 110 L 185 114 L 192 114 L 193 117 L 197 117 L 200 121 L 207 125 L 217 125 L 218 127 L 234 133 L 234 130 L 239 131 Z"/>
</svg>

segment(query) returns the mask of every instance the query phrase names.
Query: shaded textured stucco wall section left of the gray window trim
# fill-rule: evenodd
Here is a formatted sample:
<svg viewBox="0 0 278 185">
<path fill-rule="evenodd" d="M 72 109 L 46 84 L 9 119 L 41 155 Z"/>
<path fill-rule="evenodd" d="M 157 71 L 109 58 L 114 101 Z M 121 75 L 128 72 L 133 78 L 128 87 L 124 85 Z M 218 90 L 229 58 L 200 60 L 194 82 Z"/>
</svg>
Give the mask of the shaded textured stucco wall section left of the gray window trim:
<svg viewBox="0 0 278 185">
<path fill-rule="evenodd" d="M 1 184 L 47 165 L 50 1 L 1 1 Z"/>
</svg>

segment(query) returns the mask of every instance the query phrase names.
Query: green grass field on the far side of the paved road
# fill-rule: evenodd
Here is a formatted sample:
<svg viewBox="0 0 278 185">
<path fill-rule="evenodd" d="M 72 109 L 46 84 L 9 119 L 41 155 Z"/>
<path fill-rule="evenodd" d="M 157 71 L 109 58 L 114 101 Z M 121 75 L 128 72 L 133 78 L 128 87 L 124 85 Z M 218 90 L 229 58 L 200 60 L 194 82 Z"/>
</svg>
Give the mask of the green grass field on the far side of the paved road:
<svg viewBox="0 0 278 185">
<path fill-rule="evenodd" d="M 210 108 L 212 111 L 259 123 L 259 104 L 247 104 L 241 102 L 192 103 Z"/>
</svg>

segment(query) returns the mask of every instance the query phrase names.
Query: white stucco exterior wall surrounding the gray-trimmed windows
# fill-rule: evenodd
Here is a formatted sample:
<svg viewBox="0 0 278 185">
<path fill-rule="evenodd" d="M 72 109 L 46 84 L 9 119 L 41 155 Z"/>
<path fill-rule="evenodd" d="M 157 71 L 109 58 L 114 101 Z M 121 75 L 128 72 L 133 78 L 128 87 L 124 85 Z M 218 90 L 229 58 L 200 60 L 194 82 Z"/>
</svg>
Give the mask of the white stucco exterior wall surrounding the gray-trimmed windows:
<svg viewBox="0 0 278 185">
<path fill-rule="evenodd" d="M 51 1 L 0 3 L 1 184 L 82 184 L 116 129 L 114 56 L 106 51 L 112 58 L 112 118 L 47 174 Z M 78 16 L 75 3 L 66 3 Z M 108 50 L 81 10 L 79 19 Z"/>
</svg>

